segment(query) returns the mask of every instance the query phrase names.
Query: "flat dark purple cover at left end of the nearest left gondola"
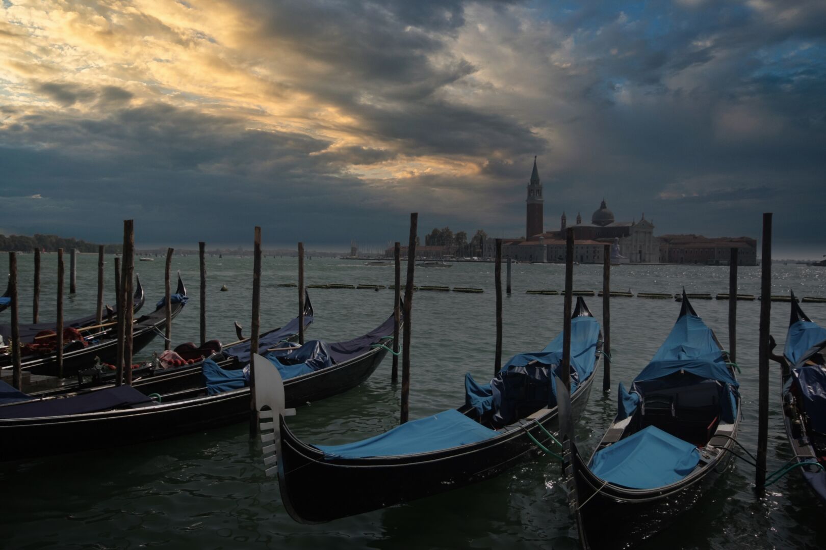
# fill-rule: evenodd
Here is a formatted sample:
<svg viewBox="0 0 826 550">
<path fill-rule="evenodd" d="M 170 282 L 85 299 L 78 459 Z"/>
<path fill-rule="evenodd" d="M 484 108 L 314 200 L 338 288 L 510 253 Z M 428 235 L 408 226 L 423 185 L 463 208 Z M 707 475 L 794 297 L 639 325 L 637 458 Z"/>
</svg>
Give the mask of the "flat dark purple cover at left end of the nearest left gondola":
<svg viewBox="0 0 826 550">
<path fill-rule="evenodd" d="M 131 386 L 107 388 L 72 397 L 42 399 L 0 407 L 0 418 L 39 418 L 42 416 L 79 415 L 84 412 L 108 411 L 153 402 Z"/>
</svg>

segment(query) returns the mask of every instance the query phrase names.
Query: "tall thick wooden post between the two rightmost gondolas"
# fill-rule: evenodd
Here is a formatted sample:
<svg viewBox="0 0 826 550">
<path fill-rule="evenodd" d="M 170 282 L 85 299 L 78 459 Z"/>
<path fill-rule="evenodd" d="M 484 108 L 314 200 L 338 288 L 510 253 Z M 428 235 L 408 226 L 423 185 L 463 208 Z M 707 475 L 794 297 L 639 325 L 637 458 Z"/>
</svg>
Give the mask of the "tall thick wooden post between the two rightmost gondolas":
<svg viewBox="0 0 826 550">
<path fill-rule="evenodd" d="M 760 260 L 760 343 L 758 355 L 759 388 L 757 390 L 757 468 L 755 488 L 766 483 L 766 452 L 769 427 L 769 330 L 771 315 L 771 213 L 763 214 L 762 258 Z"/>
</svg>

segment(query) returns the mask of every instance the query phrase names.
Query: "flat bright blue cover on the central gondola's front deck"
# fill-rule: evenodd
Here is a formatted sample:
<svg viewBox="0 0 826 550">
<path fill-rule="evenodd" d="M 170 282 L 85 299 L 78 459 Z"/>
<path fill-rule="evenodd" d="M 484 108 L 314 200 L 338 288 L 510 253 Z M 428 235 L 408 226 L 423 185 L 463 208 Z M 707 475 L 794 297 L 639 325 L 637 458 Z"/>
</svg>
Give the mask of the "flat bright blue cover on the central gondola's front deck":
<svg viewBox="0 0 826 550">
<path fill-rule="evenodd" d="M 367 440 L 343 445 L 316 445 L 325 458 L 369 458 L 430 453 L 489 440 L 495 430 L 454 409 L 396 426 Z"/>
</svg>

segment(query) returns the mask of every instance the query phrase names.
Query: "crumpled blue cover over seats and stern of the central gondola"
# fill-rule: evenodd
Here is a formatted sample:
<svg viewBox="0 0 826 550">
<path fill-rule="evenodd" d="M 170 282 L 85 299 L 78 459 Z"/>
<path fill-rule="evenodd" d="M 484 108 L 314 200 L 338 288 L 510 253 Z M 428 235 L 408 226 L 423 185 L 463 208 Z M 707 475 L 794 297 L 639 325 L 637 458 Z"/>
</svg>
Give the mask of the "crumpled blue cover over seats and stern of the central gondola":
<svg viewBox="0 0 826 550">
<path fill-rule="evenodd" d="M 600 323 L 594 317 L 574 317 L 571 321 L 571 393 L 591 376 L 596 364 L 596 341 Z M 510 424 L 520 418 L 519 409 L 556 405 L 555 377 L 548 376 L 548 368 L 558 368 L 562 362 L 563 335 L 559 334 L 544 350 L 514 355 L 491 379 L 480 384 L 465 374 L 465 403 L 476 407 L 479 414 L 496 411 L 494 420 Z M 529 413 L 530 414 L 530 413 Z"/>
</svg>

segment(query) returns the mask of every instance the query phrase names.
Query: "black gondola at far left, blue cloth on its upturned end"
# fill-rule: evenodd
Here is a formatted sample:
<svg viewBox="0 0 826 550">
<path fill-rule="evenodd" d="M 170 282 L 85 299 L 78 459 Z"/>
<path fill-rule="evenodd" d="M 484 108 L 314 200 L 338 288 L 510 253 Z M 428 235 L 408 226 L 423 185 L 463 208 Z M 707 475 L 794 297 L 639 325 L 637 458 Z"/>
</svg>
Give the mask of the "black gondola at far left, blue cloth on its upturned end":
<svg viewBox="0 0 826 550">
<path fill-rule="evenodd" d="M 140 290 L 143 294 L 143 289 Z M 136 295 L 137 293 L 135 293 Z M 178 316 L 187 302 L 187 289 L 183 285 L 180 274 L 178 274 L 178 288 L 172 294 L 172 318 Z M 141 300 L 142 302 L 143 300 Z M 94 321 L 93 321 L 94 322 Z M 149 315 L 142 315 L 135 319 L 132 329 L 132 352 L 136 353 L 147 346 L 155 336 L 164 336 L 166 327 L 166 313 L 164 310 L 164 299 L 156 305 L 154 312 Z M 78 369 L 88 368 L 94 363 L 97 357 L 104 363 L 115 363 L 117 357 L 117 327 L 115 324 L 107 324 L 107 327 L 95 329 L 91 335 L 83 336 L 77 334 L 74 339 L 65 337 L 64 330 L 64 353 L 63 353 L 63 375 L 73 377 L 78 373 Z M 77 331 L 75 331 L 77 332 Z M 0 355 L 0 365 L 2 369 L 12 369 L 11 353 Z M 22 369 L 31 374 L 46 374 L 57 376 L 59 374 L 57 364 L 57 354 L 54 351 L 46 355 L 40 355 L 36 351 L 23 355 Z"/>
</svg>

